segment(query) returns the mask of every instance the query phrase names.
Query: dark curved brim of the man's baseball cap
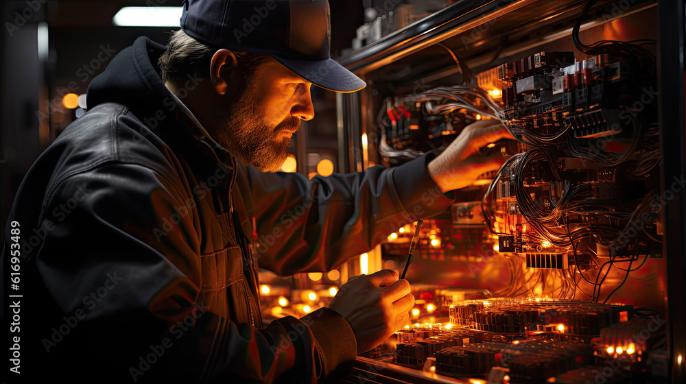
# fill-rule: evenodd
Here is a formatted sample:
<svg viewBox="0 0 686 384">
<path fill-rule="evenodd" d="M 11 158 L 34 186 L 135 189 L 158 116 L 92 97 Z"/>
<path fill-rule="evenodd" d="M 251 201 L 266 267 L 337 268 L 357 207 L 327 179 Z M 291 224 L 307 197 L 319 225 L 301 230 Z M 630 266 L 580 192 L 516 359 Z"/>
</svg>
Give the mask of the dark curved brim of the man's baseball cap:
<svg viewBox="0 0 686 384">
<path fill-rule="evenodd" d="M 275 55 L 272 57 L 303 79 L 329 91 L 349 93 L 359 91 L 367 85 L 357 75 L 331 58 L 311 61 L 281 58 Z"/>
</svg>

